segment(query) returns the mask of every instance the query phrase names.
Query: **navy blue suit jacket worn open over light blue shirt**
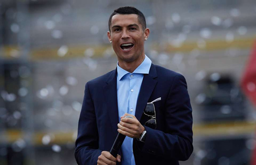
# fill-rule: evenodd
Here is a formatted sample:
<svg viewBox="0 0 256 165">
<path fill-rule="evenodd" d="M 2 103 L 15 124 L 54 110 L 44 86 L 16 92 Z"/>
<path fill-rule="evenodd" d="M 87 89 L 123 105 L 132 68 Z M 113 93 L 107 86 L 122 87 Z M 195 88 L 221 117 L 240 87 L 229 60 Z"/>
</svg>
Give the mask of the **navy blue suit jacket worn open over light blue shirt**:
<svg viewBox="0 0 256 165">
<path fill-rule="evenodd" d="M 135 163 L 179 164 L 193 151 L 192 108 L 185 78 L 152 64 L 139 92 L 135 116 L 142 123 L 147 102 L 154 103 L 156 129 L 145 126 L 145 143 L 133 140 Z M 117 69 L 87 82 L 78 122 L 75 158 L 78 164 L 97 164 L 101 151 L 110 151 L 118 135 Z M 125 154 L 125 153 L 121 153 Z M 121 162 L 122 163 L 122 162 Z M 121 164 L 118 163 L 118 164 Z"/>
</svg>

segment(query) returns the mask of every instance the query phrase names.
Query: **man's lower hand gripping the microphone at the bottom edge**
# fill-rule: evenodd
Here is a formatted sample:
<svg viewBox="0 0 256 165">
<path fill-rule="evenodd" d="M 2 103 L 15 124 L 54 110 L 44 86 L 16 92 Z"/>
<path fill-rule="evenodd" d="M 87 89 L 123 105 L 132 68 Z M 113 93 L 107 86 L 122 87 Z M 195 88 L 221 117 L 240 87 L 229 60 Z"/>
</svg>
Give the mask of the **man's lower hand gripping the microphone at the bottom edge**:
<svg viewBox="0 0 256 165">
<path fill-rule="evenodd" d="M 110 152 L 102 151 L 101 155 L 98 157 L 97 165 L 115 165 L 118 162 L 121 162 L 121 156 L 118 155 L 117 158 L 113 157 Z"/>
</svg>

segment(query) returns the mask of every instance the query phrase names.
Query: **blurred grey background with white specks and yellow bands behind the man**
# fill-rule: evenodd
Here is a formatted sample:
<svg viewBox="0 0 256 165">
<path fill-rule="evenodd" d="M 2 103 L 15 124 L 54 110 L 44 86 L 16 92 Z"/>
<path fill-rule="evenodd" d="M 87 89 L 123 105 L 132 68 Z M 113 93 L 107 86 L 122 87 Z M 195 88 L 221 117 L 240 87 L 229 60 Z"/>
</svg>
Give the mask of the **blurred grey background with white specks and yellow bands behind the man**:
<svg viewBox="0 0 256 165">
<path fill-rule="evenodd" d="M 194 152 L 180 164 L 250 164 L 256 111 L 240 84 L 255 0 L 1 0 L 0 164 L 76 164 L 84 87 L 117 66 L 107 31 L 121 6 L 144 13 L 153 63 L 187 79 Z"/>
</svg>

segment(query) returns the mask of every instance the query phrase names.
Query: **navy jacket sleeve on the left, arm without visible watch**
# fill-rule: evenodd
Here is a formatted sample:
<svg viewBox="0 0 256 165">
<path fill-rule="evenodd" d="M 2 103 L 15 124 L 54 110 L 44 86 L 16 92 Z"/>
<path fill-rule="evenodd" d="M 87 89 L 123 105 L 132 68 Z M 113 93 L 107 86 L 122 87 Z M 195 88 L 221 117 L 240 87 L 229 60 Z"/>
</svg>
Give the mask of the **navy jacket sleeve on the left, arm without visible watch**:
<svg viewBox="0 0 256 165">
<path fill-rule="evenodd" d="M 101 155 L 94 103 L 91 99 L 89 84 L 85 86 L 85 96 L 78 121 L 75 158 L 77 164 L 97 164 Z"/>
</svg>

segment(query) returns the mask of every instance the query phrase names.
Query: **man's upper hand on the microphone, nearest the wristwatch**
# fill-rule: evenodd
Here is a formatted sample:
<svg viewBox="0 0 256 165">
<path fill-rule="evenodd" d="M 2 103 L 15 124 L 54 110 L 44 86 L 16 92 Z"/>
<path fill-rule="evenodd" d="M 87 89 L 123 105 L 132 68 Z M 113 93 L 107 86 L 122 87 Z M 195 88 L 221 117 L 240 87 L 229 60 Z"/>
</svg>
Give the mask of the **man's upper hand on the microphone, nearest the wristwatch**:
<svg viewBox="0 0 256 165">
<path fill-rule="evenodd" d="M 132 116 L 133 119 L 125 116 Z M 139 123 L 139 121 L 136 119 L 134 115 L 125 113 L 121 117 L 121 121 L 118 124 L 118 132 L 125 135 L 129 136 L 131 138 L 139 138 L 141 137 L 141 134 L 145 131 L 144 126 Z"/>
</svg>

